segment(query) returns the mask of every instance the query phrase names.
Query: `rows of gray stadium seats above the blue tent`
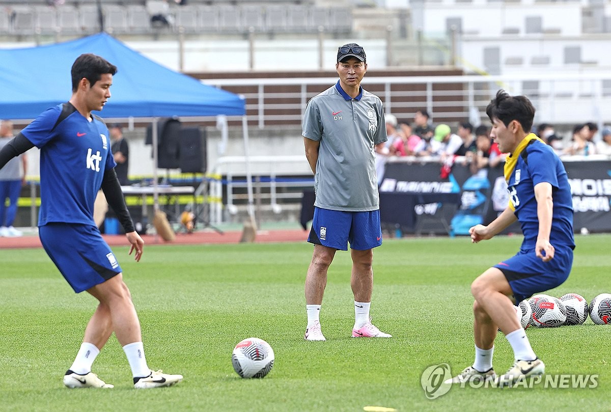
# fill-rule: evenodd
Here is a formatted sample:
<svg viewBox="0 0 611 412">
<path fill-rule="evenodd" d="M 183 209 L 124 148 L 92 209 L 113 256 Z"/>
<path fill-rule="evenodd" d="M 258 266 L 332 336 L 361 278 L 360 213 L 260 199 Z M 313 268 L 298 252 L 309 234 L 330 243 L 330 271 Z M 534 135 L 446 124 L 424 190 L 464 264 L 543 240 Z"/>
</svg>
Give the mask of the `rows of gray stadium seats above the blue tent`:
<svg viewBox="0 0 611 412">
<path fill-rule="evenodd" d="M 152 34 L 159 29 L 186 33 L 315 33 L 320 26 L 334 33 L 352 29 L 347 7 L 317 7 L 309 2 L 196 2 L 178 6 L 163 1 L 104 1 L 104 28 L 113 34 Z M 46 1 L 4 2 L 1 35 L 92 34 L 100 31 L 95 1 L 48 6 Z M 153 17 L 161 17 L 153 18 Z"/>
</svg>

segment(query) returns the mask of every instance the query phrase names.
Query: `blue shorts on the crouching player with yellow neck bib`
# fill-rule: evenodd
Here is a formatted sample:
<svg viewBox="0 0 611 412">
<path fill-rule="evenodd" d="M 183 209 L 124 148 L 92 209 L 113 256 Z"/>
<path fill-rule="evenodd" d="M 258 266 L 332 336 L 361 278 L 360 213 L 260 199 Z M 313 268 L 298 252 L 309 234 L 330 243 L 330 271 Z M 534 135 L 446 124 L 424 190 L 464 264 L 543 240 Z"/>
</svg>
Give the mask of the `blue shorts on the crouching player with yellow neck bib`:
<svg viewBox="0 0 611 412">
<path fill-rule="evenodd" d="M 555 248 L 554 259 L 549 262 L 543 262 L 535 256 L 535 249 L 530 249 L 521 250 L 515 256 L 494 265 L 505 274 L 516 303 L 561 285 L 569 277 L 571 266 L 573 249 L 568 247 Z"/>
</svg>

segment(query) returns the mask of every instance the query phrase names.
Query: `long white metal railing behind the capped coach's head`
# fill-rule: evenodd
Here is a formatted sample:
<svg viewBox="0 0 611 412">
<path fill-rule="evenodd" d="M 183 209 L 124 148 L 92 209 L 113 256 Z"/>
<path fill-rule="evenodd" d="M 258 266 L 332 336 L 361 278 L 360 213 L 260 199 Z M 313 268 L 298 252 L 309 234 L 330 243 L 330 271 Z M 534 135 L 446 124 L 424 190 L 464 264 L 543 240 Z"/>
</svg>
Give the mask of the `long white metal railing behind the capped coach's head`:
<svg viewBox="0 0 611 412">
<path fill-rule="evenodd" d="M 307 101 L 337 81 L 325 78 L 205 79 L 246 99 L 250 125 L 299 125 Z M 611 74 L 539 76 L 365 76 L 364 88 L 378 95 L 387 113 L 411 121 L 424 108 L 435 123 L 488 122 L 485 109 L 497 90 L 524 94 L 536 108 L 535 123 L 574 125 L 611 121 Z M 245 92 L 245 90 L 249 90 Z"/>
</svg>

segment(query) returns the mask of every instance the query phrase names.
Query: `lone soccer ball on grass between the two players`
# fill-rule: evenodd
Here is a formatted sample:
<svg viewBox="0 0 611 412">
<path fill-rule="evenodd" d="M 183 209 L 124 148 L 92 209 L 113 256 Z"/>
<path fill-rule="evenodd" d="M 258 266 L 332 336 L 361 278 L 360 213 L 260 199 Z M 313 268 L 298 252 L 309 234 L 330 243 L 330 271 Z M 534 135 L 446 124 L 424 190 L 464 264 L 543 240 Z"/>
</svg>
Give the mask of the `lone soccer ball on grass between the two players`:
<svg viewBox="0 0 611 412">
<path fill-rule="evenodd" d="M 274 366 L 274 350 L 265 340 L 249 337 L 235 345 L 231 362 L 243 378 L 264 378 Z"/>
</svg>

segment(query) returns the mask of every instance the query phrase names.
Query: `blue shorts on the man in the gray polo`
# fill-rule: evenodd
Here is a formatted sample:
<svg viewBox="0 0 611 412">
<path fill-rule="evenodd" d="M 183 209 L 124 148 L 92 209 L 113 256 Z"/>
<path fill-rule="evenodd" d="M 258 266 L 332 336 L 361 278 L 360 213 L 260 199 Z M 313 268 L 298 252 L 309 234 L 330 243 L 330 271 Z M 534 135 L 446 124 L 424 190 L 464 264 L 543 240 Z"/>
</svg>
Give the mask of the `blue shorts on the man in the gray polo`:
<svg viewBox="0 0 611 412">
<path fill-rule="evenodd" d="M 382 245 L 380 212 L 344 212 L 315 207 L 307 241 L 340 251 L 347 251 L 348 243 L 357 251 L 377 248 Z"/>
</svg>

